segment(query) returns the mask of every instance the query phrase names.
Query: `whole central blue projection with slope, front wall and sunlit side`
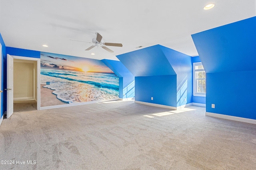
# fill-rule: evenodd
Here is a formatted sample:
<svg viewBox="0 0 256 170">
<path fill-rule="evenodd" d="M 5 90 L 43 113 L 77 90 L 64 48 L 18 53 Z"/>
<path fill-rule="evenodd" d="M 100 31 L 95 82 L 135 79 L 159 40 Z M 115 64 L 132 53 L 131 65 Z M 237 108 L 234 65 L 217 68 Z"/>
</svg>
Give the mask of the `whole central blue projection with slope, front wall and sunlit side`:
<svg viewBox="0 0 256 170">
<path fill-rule="evenodd" d="M 136 101 L 173 107 L 192 102 L 190 56 L 154 45 L 116 57 L 135 76 Z"/>
</svg>

